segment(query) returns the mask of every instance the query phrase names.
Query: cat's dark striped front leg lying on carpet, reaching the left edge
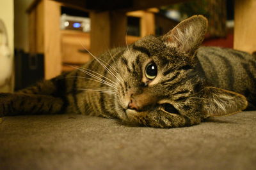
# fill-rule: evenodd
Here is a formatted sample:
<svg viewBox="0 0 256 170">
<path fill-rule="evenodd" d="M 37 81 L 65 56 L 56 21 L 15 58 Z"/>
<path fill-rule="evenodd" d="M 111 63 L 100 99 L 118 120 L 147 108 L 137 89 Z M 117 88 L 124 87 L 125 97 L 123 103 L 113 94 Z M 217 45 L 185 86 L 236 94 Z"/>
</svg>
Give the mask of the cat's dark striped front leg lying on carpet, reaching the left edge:
<svg viewBox="0 0 256 170">
<path fill-rule="evenodd" d="M 45 95 L 0 93 L 0 117 L 54 114 L 63 110 L 63 99 Z"/>
</svg>

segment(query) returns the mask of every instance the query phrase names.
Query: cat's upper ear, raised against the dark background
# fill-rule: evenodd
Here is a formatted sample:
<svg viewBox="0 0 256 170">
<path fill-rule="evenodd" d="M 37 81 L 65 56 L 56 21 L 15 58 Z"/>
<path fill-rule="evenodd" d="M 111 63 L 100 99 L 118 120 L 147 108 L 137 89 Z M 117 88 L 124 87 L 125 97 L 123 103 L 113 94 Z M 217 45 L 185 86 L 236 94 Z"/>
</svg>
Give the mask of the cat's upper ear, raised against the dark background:
<svg viewBox="0 0 256 170">
<path fill-rule="evenodd" d="M 204 40 L 208 21 L 202 15 L 194 15 L 180 22 L 163 36 L 167 46 L 175 47 L 180 52 L 193 55 Z"/>
</svg>

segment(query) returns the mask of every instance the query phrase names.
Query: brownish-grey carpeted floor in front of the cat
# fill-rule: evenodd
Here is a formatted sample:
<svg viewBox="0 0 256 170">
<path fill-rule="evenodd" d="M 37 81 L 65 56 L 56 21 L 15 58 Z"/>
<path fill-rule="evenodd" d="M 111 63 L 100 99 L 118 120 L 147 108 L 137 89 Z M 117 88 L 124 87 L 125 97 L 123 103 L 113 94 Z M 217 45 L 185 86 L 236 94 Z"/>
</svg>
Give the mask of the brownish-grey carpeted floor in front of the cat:
<svg viewBox="0 0 256 170">
<path fill-rule="evenodd" d="M 4 117 L 0 169 L 256 169 L 256 111 L 193 127 L 84 115 Z"/>
</svg>

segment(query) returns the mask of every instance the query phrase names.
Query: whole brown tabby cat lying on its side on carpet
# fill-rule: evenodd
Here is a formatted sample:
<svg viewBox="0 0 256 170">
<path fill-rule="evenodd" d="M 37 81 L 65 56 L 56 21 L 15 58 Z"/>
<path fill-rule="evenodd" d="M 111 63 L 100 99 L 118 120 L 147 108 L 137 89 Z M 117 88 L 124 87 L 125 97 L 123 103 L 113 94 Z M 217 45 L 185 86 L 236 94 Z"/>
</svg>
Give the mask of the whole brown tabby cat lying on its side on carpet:
<svg viewBox="0 0 256 170">
<path fill-rule="evenodd" d="M 70 73 L 2 93 L 0 116 L 81 113 L 168 128 L 255 109 L 255 58 L 199 47 L 206 30 L 207 19 L 193 16 L 164 36 L 146 36 Z"/>
</svg>

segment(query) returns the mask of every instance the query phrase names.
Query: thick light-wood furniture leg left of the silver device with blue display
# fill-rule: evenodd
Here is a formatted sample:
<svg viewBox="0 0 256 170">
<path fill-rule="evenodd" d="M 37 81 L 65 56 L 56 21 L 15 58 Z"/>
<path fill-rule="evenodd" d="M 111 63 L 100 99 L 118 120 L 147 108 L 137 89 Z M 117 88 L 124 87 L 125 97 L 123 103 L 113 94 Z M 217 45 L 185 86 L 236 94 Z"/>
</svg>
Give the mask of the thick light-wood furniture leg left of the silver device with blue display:
<svg viewBox="0 0 256 170">
<path fill-rule="evenodd" d="M 60 3 L 33 1 L 29 14 L 29 53 L 44 53 L 45 79 L 61 73 Z"/>
</svg>

